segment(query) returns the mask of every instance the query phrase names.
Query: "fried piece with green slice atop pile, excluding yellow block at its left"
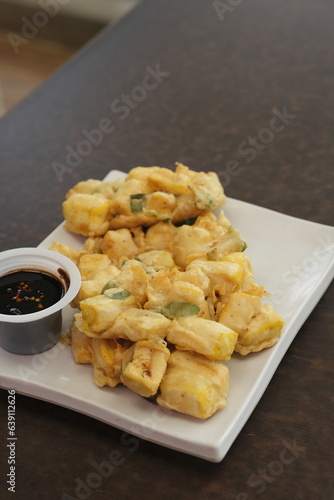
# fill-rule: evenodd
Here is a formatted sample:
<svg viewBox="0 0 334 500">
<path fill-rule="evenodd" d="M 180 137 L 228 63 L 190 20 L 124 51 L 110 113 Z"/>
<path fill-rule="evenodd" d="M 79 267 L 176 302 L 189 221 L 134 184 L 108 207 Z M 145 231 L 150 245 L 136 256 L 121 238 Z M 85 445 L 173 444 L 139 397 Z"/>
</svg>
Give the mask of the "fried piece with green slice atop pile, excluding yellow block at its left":
<svg viewBox="0 0 334 500">
<path fill-rule="evenodd" d="M 225 194 L 214 172 L 195 172 L 177 164 L 175 172 L 161 167 L 132 169 L 112 201 L 111 228 L 151 226 L 159 220 L 179 222 L 216 209 Z"/>
</svg>

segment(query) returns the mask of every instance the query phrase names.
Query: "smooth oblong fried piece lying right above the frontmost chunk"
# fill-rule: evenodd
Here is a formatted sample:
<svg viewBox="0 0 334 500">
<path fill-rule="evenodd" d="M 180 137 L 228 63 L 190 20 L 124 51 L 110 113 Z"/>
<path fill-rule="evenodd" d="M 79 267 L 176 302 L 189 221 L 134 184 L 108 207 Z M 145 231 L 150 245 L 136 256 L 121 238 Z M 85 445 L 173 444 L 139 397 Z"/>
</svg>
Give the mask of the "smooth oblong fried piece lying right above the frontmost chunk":
<svg viewBox="0 0 334 500">
<path fill-rule="evenodd" d="M 186 316 L 173 320 L 166 338 L 179 350 L 227 361 L 234 351 L 238 334 L 216 321 Z"/>
</svg>

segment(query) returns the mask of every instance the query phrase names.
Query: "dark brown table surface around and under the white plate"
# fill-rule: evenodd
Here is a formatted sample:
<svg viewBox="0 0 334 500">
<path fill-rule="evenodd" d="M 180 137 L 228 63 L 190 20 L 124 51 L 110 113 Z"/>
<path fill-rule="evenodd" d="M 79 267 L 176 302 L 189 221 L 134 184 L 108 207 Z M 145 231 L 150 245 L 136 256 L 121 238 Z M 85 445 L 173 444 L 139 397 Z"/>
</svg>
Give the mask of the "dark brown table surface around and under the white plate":
<svg viewBox="0 0 334 500">
<path fill-rule="evenodd" d="M 333 25 L 330 0 L 144 2 L 1 120 L 1 250 L 38 245 L 79 180 L 175 161 L 218 172 L 228 196 L 333 225 Z M 57 178 L 54 162 L 104 118 L 114 130 Z M 1 498 L 333 498 L 333 291 L 218 464 L 143 440 L 134 450 L 121 430 L 17 395 L 14 495 L 1 390 Z M 113 450 L 124 460 L 96 487 L 92 464 Z"/>
</svg>

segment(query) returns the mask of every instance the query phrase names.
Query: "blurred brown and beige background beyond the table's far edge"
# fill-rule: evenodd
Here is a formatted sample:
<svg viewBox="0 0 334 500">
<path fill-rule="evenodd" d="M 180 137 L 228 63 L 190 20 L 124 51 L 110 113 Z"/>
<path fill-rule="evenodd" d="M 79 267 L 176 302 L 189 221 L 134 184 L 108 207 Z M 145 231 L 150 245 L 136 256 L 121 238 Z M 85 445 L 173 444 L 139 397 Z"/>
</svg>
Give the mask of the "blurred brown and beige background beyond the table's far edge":
<svg viewBox="0 0 334 500">
<path fill-rule="evenodd" d="M 0 0 L 0 117 L 142 0 Z"/>
</svg>

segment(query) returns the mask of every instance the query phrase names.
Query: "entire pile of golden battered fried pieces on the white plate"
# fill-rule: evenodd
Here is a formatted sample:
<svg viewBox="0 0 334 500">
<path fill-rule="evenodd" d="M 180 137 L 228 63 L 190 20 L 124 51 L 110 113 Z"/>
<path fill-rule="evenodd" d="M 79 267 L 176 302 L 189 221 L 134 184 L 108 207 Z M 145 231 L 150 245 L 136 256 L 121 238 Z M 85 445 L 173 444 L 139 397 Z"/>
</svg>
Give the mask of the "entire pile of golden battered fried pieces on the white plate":
<svg viewBox="0 0 334 500">
<path fill-rule="evenodd" d="M 226 404 L 222 361 L 274 345 L 284 321 L 254 282 L 246 243 L 223 211 L 218 176 L 177 163 L 94 179 L 66 195 L 66 229 L 82 250 L 51 249 L 79 268 L 69 341 L 99 387 L 119 383 L 195 418 Z"/>
</svg>

